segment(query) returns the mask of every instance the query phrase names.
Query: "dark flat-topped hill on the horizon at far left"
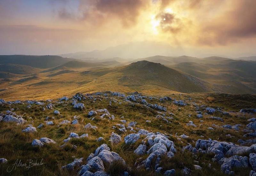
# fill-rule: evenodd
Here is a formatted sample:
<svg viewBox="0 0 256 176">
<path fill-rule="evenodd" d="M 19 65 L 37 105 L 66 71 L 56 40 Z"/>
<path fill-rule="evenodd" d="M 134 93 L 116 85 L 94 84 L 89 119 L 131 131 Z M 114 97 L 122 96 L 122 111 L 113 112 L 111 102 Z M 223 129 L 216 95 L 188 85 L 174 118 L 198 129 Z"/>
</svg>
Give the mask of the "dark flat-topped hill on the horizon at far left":
<svg viewBox="0 0 256 176">
<path fill-rule="evenodd" d="M 35 68 L 52 68 L 74 59 L 60 56 L 0 55 L 0 64 L 19 64 Z"/>
</svg>

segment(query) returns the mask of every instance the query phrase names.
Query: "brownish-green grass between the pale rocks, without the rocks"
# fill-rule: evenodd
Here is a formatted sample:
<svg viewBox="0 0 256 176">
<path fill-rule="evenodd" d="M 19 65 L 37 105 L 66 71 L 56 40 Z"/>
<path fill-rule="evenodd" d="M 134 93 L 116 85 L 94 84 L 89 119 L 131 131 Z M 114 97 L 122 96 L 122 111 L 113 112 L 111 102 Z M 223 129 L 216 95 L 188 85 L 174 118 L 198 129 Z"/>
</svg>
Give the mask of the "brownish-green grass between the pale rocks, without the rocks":
<svg viewBox="0 0 256 176">
<path fill-rule="evenodd" d="M 222 128 L 216 128 L 214 131 L 208 130 L 207 128 L 213 123 L 216 125 L 224 124 L 242 124 L 242 128 L 248 123 L 247 119 L 251 118 L 250 115 L 243 115 L 237 113 L 232 113 L 230 116 L 224 116 L 220 113 L 213 114 L 213 116 L 220 116 L 224 119 L 224 122 L 219 122 L 215 120 L 210 120 L 207 116 L 204 115 L 203 119 L 196 118 L 195 108 L 192 105 L 192 102 L 197 103 L 198 105 L 205 104 L 207 106 L 215 107 L 219 106 L 225 111 L 235 110 L 238 111 L 240 108 L 249 108 L 256 104 L 256 97 L 253 95 L 228 95 L 228 94 L 191 94 L 188 95 L 172 95 L 173 98 L 178 100 L 185 100 L 189 103 L 186 107 L 181 107 L 174 105 L 170 101 L 160 102 L 159 100 L 148 100 L 150 103 L 157 103 L 167 108 L 168 111 L 175 114 L 174 120 L 171 124 L 163 123 L 163 121 L 155 118 L 157 115 L 156 111 L 150 110 L 141 106 L 140 104 L 129 105 L 128 103 L 113 103 L 112 106 L 109 105 L 109 98 L 105 99 L 104 97 L 98 97 L 94 102 L 92 100 L 82 101 L 85 104 L 86 110 L 76 111 L 72 108 L 70 102 L 65 102 L 63 104 L 55 104 L 56 108 L 60 111 L 61 116 L 56 116 L 53 114 L 53 110 L 42 111 L 42 107 L 38 105 L 32 105 L 31 109 L 25 108 L 26 105 L 11 105 L 9 106 L 0 106 L 0 111 L 4 112 L 10 108 L 15 108 L 15 112 L 19 115 L 24 116 L 28 120 L 27 124 L 33 124 L 37 126 L 40 123 L 44 123 L 46 116 L 55 116 L 53 126 L 45 126 L 42 129 L 38 129 L 38 132 L 34 134 L 24 134 L 21 132 L 26 125 L 14 125 L 7 123 L 0 123 L 0 156 L 8 159 L 8 164 L 12 164 L 16 159 L 21 159 L 26 161 L 27 159 L 43 158 L 43 162 L 46 163 L 43 166 L 35 166 L 28 169 L 17 168 L 11 173 L 7 173 L 6 169 L 9 166 L 8 164 L 3 165 L 0 169 L 1 175 L 76 175 L 76 172 L 65 172 L 60 168 L 62 165 L 66 165 L 73 161 L 72 156 L 76 158 L 84 157 L 85 159 L 89 156 L 91 152 L 100 146 L 102 143 L 107 143 L 111 150 L 117 152 L 124 158 L 127 165 L 132 167 L 132 175 L 155 175 L 154 172 L 146 172 L 144 169 L 137 170 L 134 167 L 134 163 L 140 156 L 135 156 L 133 150 L 137 148 L 140 144 L 141 138 L 138 142 L 133 145 L 125 145 L 124 140 L 117 145 L 111 145 L 108 141 L 108 138 L 111 132 L 119 133 L 122 138 L 125 135 L 122 135 L 117 130 L 112 130 L 112 125 L 120 123 L 120 117 L 124 118 L 129 122 L 137 121 L 137 127 L 146 129 L 153 132 L 162 132 L 168 135 L 174 135 L 176 132 L 178 134 L 185 133 L 189 136 L 189 139 L 182 139 L 181 141 L 177 140 L 175 137 L 170 136 L 170 139 L 174 141 L 178 152 L 175 154 L 175 157 L 171 160 L 163 158 L 163 167 L 167 169 L 175 169 L 177 174 L 180 175 L 180 169 L 183 166 L 189 167 L 193 170 L 193 160 L 199 161 L 199 165 L 203 167 L 202 171 L 192 171 L 192 175 L 224 175 L 220 172 L 220 165 L 213 163 L 211 161 L 212 156 L 208 155 L 197 155 L 197 157 L 192 156 L 189 153 L 182 153 L 179 148 L 186 145 L 187 142 L 195 145 L 193 141 L 200 139 L 200 135 L 205 136 L 205 139 L 212 138 L 213 140 L 219 141 L 228 141 L 234 142 L 241 138 L 244 134 L 242 131 L 235 132 L 233 130 L 224 130 Z M 192 100 L 189 100 L 188 97 L 191 97 Z M 102 100 L 100 101 L 99 98 Z M 120 98 L 115 97 L 119 102 L 122 102 Z M 91 121 L 87 118 L 87 113 L 90 110 L 107 108 L 111 114 L 114 114 L 116 119 L 114 121 L 109 120 L 100 120 L 96 118 L 96 121 Z M 24 114 L 25 113 L 25 114 Z M 191 114 L 191 117 L 188 117 L 188 114 Z M 61 125 L 58 126 L 62 120 L 73 120 L 73 116 L 79 116 L 78 125 Z M 32 117 L 29 119 L 28 117 Z M 146 123 L 146 120 L 151 120 L 151 124 Z M 192 120 L 197 127 L 188 127 L 186 123 L 189 120 Z M 204 122 L 199 122 L 204 120 Z M 87 123 L 92 123 L 92 125 L 98 126 L 98 130 L 84 130 L 83 126 Z M 200 126 L 199 124 L 203 124 Z M 160 126 L 162 125 L 162 126 Z M 76 132 L 79 135 L 83 133 L 88 133 L 88 139 L 73 139 L 69 142 L 68 146 L 65 149 L 61 149 L 59 146 L 63 144 L 63 140 L 66 139 L 70 132 Z M 128 132 L 131 133 L 131 132 Z M 231 134 L 233 138 L 226 137 L 226 134 Z M 36 148 L 31 146 L 33 139 L 39 139 L 41 137 L 49 137 L 55 140 L 58 145 L 47 145 L 43 148 Z M 105 140 L 101 142 L 95 141 L 98 137 L 104 137 Z M 77 146 L 77 151 L 71 149 L 71 144 Z M 147 155 L 142 156 L 146 158 Z M 205 164 L 203 164 L 203 162 Z M 211 163 L 212 167 L 216 170 L 208 168 L 208 164 Z M 113 165 L 112 168 L 107 169 L 107 172 L 117 173 L 118 165 Z M 250 168 L 236 171 L 237 175 L 248 175 Z"/>
</svg>

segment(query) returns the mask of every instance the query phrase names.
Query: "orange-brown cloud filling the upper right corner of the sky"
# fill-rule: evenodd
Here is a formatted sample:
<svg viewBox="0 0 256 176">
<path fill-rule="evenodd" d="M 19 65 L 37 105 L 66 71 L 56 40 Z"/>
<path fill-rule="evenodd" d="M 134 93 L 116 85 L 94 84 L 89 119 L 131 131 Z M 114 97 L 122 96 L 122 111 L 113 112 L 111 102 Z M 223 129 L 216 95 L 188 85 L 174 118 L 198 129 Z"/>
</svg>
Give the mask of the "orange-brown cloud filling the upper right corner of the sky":
<svg viewBox="0 0 256 176">
<path fill-rule="evenodd" d="M 256 37 L 256 1 L 235 0 L 232 9 L 202 24 L 199 44 L 226 45 Z"/>
</svg>

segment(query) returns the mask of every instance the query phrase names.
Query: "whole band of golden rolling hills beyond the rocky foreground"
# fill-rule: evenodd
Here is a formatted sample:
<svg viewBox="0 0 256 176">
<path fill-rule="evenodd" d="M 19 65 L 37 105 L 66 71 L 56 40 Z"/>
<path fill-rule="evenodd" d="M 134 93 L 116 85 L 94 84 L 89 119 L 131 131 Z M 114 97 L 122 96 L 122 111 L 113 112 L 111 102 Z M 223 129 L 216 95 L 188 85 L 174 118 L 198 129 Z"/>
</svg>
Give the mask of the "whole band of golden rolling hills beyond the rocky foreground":
<svg viewBox="0 0 256 176">
<path fill-rule="evenodd" d="M 169 57 L 165 57 L 165 59 L 167 58 Z M 188 56 L 181 58 L 191 59 Z M 0 72 L 0 76 L 12 79 L 2 82 L 0 96 L 23 99 L 47 95 L 47 98 L 51 98 L 46 94 L 49 91 L 54 96 L 55 94 L 70 95 L 81 91 L 109 90 L 140 91 L 147 94 L 170 92 L 256 93 L 255 62 L 226 59 L 213 57 L 203 59 L 206 60 L 204 63 L 201 61 L 182 62 L 166 66 L 144 60 L 118 67 L 72 60 L 49 69 L 24 65 L 14 65 L 14 67 L 13 64 L 7 64 L 13 66 L 13 70 L 19 66 L 19 69 L 15 71 L 27 74 L 18 75 L 4 72 L 8 71 L 8 67 L 5 67 L 5 70 Z M 33 72 L 35 72 L 33 75 L 35 77 L 31 75 Z M 30 75 L 28 76 L 28 74 Z"/>
</svg>

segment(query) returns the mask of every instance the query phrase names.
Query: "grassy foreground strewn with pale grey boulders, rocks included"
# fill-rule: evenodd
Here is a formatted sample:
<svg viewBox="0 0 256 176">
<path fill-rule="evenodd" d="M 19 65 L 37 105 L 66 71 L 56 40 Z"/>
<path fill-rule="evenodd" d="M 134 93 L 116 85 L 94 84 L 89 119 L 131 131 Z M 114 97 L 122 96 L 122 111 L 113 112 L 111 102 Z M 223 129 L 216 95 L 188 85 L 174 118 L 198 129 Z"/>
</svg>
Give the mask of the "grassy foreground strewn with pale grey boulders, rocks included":
<svg viewBox="0 0 256 176">
<path fill-rule="evenodd" d="M 1 99 L 1 172 L 256 176 L 256 109 L 178 97 L 97 92 Z M 16 159 L 28 158 L 45 164 L 8 171 Z"/>
</svg>

